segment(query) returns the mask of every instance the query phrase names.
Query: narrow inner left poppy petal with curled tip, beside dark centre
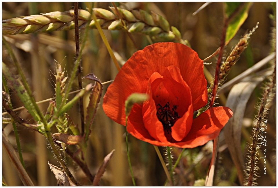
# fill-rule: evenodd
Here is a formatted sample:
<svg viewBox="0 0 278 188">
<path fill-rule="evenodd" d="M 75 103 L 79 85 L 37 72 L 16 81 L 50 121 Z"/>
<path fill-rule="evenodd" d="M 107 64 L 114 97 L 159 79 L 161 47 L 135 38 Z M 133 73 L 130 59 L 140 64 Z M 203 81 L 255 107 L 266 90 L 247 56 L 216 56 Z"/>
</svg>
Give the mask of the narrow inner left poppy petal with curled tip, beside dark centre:
<svg viewBox="0 0 278 188">
<path fill-rule="evenodd" d="M 158 120 L 156 116 L 156 103 L 153 100 L 152 96 L 152 87 L 156 88 L 160 82 L 162 82 L 163 76 L 155 72 L 151 75 L 148 83 L 147 94 L 149 99 L 143 103 L 142 107 L 142 116 L 143 124 L 148 130 L 149 134 L 160 142 L 167 142 L 166 137 L 164 136 L 164 129 L 162 123 Z M 142 125 L 143 126 L 143 125 Z"/>
</svg>

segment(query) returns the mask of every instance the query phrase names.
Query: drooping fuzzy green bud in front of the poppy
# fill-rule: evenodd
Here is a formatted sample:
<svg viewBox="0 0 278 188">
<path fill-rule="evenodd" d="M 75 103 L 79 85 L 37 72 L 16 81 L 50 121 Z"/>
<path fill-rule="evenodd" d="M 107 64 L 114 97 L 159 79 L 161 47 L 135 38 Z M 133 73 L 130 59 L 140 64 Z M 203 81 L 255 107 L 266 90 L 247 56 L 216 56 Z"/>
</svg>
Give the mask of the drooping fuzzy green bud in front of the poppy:
<svg viewBox="0 0 278 188">
<path fill-rule="evenodd" d="M 135 103 L 142 104 L 145 100 L 148 100 L 147 94 L 133 93 L 127 97 L 125 101 L 125 115 L 129 116 L 131 109 Z"/>
</svg>

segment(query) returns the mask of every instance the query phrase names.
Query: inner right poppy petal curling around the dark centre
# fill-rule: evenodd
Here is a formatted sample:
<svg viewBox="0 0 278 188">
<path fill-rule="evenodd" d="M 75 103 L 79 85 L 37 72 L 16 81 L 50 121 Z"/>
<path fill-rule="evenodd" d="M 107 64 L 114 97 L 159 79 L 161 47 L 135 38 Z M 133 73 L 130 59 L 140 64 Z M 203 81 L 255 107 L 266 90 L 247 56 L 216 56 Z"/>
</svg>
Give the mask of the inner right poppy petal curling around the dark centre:
<svg viewBox="0 0 278 188">
<path fill-rule="evenodd" d="M 181 116 L 172 129 L 172 137 L 180 141 L 190 131 L 193 121 L 193 105 L 190 88 L 180 75 L 178 67 L 172 65 L 167 67 L 163 73 L 163 85 L 170 94 L 172 103 L 177 105 L 175 110 Z"/>
</svg>

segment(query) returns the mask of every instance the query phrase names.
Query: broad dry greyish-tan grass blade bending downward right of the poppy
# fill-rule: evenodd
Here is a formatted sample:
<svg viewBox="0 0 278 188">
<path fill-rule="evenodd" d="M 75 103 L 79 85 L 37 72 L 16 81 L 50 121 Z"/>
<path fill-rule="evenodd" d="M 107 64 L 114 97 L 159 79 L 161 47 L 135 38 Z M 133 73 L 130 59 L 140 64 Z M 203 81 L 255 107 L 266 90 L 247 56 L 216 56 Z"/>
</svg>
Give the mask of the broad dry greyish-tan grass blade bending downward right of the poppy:
<svg viewBox="0 0 278 188">
<path fill-rule="evenodd" d="M 252 82 L 238 83 L 234 85 L 227 98 L 226 106 L 229 107 L 234 114 L 224 127 L 224 135 L 229 152 L 237 169 L 237 176 L 239 177 L 239 183 L 241 186 L 243 186 L 244 182 L 244 162 L 240 143 L 242 120 L 248 99 L 253 93 L 255 87 L 263 80 L 263 77 L 259 77 Z"/>
</svg>

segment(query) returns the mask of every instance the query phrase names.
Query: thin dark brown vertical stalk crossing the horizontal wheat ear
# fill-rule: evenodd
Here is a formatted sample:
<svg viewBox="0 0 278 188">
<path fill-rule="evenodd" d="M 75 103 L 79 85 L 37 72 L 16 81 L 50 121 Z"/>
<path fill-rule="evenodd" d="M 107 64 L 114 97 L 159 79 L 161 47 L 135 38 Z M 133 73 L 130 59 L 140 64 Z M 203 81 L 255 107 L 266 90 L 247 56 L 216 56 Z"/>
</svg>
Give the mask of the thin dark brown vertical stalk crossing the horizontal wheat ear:
<svg viewBox="0 0 278 188">
<path fill-rule="evenodd" d="M 74 2 L 74 33 L 75 33 L 75 50 L 76 58 L 80 53 L 79 47 L 79 29 L 78 29 L 78 2 Z M 82 89 L 82 80 L 81 80 L 81 60 L 78 63 L 77 76 L 78 76 L 78 89 Z M 83 107 L 83 97 L 79 100 L 80 105 L 80 119 L 81 119 L 81 135 L 84 134 L 84 107 Z"/>
</svg>

